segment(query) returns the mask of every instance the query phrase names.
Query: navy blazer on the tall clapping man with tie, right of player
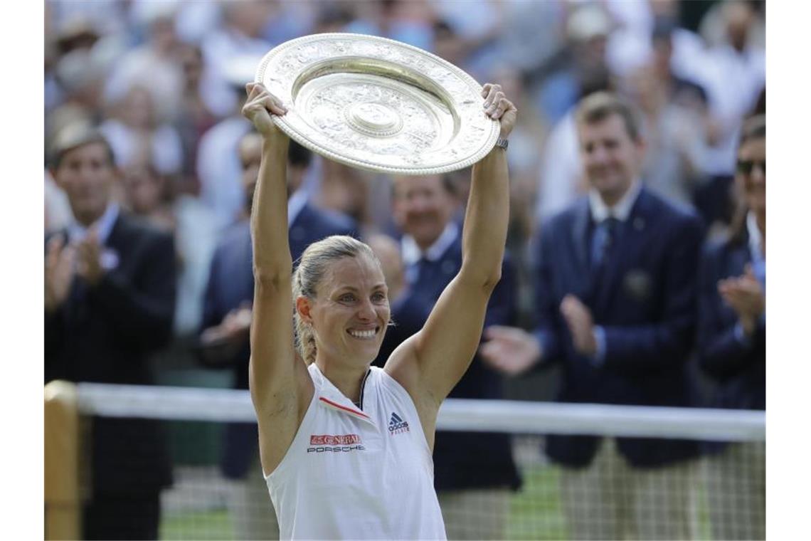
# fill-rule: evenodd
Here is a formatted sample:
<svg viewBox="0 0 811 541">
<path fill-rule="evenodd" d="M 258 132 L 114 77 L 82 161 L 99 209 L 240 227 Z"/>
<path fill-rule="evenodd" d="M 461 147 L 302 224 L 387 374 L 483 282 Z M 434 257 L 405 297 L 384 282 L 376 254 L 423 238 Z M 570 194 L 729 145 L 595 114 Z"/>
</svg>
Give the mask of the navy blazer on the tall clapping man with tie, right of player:
<svg viewBox="0 0 811 541">
<path fill-rule="evenodd" d="M 562 363 L 557 400 L 644 406 L 689 406 L 686 363 L 693 347 L 696 269 L 701 221 L 640 191 L 621 225 L 614 256 L 604 272 L 590 270 L 594 225 L 587 198 L 543 225 L 535 246 L 536 310 L 544 363 Z M 590 308 L 605 330 L 605 357 L 596 367 L 577 354 L 562 316 L 567 294 Z M 586 466 L 596 453 L 594 436 L 548 436 L 547 455 L 565 466 Z M 697 453 L 676 440 L 619 438 L 633 466 L 659 466 Z"/>
</svg>

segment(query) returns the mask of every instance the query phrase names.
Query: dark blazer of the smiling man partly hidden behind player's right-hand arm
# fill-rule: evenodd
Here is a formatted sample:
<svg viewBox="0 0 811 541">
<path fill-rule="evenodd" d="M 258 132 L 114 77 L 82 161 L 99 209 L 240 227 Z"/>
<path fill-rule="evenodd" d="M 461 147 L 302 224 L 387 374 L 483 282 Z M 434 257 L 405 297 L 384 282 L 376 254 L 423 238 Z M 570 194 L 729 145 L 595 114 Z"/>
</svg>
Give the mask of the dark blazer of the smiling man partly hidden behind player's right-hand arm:
<svg viewBox="0 0 811 541">
<path fill-rule="evenodd" d="M 461 235 L 436 261 L 420 270 L 418 280 L 392 305 L 394 326 L 388 328 L 375 365 L 384 366 L 388 356 L 406 338 L 417 333 L 428 319 L 445 286 L 461 268 Z M 501 280 L 487 304 L 487 325 L 515 324 L 515 267 L 504 258 Z M 449 397 L 502 398 L 501 376 L 479 359 L 478 354 Z M 486 432 L 437 432 L 434 444 L 436 490 L 521 486 L 513 463 L 509 436 Z"/>
</svg>

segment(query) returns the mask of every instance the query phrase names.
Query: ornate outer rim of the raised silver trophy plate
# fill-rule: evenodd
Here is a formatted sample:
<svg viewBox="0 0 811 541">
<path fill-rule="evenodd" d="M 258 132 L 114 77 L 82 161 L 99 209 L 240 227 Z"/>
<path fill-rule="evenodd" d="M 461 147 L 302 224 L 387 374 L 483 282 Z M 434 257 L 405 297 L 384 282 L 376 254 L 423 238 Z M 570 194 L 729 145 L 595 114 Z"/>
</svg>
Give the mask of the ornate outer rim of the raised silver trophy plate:
<svg viewBox="0 0 811 541">
<path fill-rule="evenodd" d="M 407 43 L 403 43 L 402 41 L 397 41 L 390 39 L 388 37 L 381 37 L 381 36 L 369 36 L 366 34 L 357 34 L 352 32 L 325 32 L 321 34 L 309 34 L 307 36 L 301 36 L 294 38 L 289 41 L 285 41 L 280 45 L 277 45 L 268 53 L 264 54 L 262 57 L 259 66 L 256 68 L 255 72 L 255 83 L 263 83 L 266 76 L 266 71 L 268 65 L 274 58 L 277 58 L 278 55 L 285 52 L 286 49 L 290 49 L 291 47 L 295 47 L 297 45 L 307 44 L 311 41 L 330 41 L 330 40 L 345 40 L 345 39 L 355 39 L 359 41 L 369 41 L 371 43 L 384 43 L 388 45 L 393 45 L 395 47 L 399 47 L 402 49 L 407 49 L 411 52 L 416 54 L 421 54 L 427 58 L 430 58 L 432 61 L 440 64 L 441 67 L 444 69 L 451 71 L 453 75 L 456 75 L 463 83 L 465 83 L 471 89 L 474 89 L 478 95 L 481 97 L 482 85 L 478 84 L 478 81 L 474 79 L 470 74 L 466 71 L 462 70 L 460 67 L 457 67 L 451 62 L 448 62 L 444 58 L 440 58 L 436 54 L 433 54 L 425 49 L 420 49 L 414 45 L 409 45 Z M 354 55 L 356 56 L 356 55 Z M 373 57 L 368 57 L 372 58 Z M 405 67 L 405 66 L 404 66 Z M 408 69 L 412 69 L 410 67 L 406 67 Z M 303 69 L 300 68 L 296 76 L 300 75 L 303 72 Z M 427 79 L 430 79 L 426 74 L 420 74 L 426 76 Z M 295 79 L 295 77 L 293 78 Z M 418 88 L 419 90 L 425 91 L 425 88 L 419 88 L 416 85 L 410 85 L 414 88 Z M 439 85 L 441 86 L 441 85 Z M 292 94 L 292 92 L 290 92 Z M 484 100 L 481 97 L 482 102 Z M 285 104 L 285 107 L 288 109 L 288 114 L 290 114 L 290 106 L 292 104 Z M 482 110 L 482 114 L 484 115 L 484 109 Z M 286 116 L 286 115 L 285 115 Z M 387 165 L 375 161 L 375 153 L 370 153 L 370 158 L 368 160 L 360 159 L 358 157 L 348 156 L 341 152 L 337 152 L 335 148 L 329 148 L 324 146 L 324 144 L 320 144 L 315 140 L 312 140 L 311 137 L 307 135 L 306 132 L 299 130 L 295 127 L 291 122 L 288 122 L 285 119 L 285 116 L 279 116 L 272 114 L 271 119 L 276 124 L 281 131 L 284 131 L 286 135 L 290 137 L 290 139 L 295 140 L 298 144 L 301 144 L 303 147 L 308 148 L 312 152 L 316 152 L 323 157 L 326 157 L 330 160 L 337 161 L 344 165 L 349 165 L 350 167 L 368 170 L 375 173 L 385 173 L 385 174 L 400 174 L 400 175 L 428 175 L 428 174 L 444 174 L 449 173 L 455 170 L 465 169 L 470 165 L 480 161 L 483 157 L 487 156 L 487 154 L 492 150 L 492 148 L 496 145 L 496 140 L 499 137 L 500 133 L 500 122 L 497 120 L 487 118 L 489 121 L 489 131 L 486 133 L 486 137 L 483 137 L 481 140 L 481 144 L 474 152 L 470 152 L 469 154 L 459 158 L 458 160 L 446 163 L 444 165 L 419 165 L 419 166 L 397 166 L 397 165 Z M 462 122 L 465 122 L 465 118 L 462 118 Z M 471 122 L 467 120 L 467 122 Z"/>
</svg>

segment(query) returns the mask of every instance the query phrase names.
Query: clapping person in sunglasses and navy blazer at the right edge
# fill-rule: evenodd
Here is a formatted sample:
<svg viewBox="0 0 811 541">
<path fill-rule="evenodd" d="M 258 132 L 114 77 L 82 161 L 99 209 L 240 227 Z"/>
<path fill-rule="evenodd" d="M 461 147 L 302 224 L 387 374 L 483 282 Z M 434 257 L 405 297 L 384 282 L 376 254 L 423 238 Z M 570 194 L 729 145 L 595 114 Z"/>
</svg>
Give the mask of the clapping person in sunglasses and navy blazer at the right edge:
<svg viewBox="0 0 811 541">
<path fill-rule="evenodd" d="M 698 350 L 718 384 L 710 407 L 766 410 L 766 118 L 744 123 L 732 234 L 708 247 L 699 279 Z M 765 539 L 766 444 L 707 444 L 713 539 Z M 745 495 L 745 496 L 744 496 Z"/>
</svg>

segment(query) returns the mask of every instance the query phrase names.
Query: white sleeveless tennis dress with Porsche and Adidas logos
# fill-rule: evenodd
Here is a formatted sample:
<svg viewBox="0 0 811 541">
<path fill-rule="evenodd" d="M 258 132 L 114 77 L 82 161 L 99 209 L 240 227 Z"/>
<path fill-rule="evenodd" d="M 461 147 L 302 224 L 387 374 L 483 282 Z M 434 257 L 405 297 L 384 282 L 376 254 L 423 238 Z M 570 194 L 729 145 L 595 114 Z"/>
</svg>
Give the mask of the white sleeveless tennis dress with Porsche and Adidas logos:
<svg viewBox="0 0 811 541">
<path fill-rule="evenodd" d="M 309 367 L 310 406 L 265 480 L 281 539 L 445 539 L 434 463 L 410 395 L 378 367 L 358 409 Z"/>
</svg>

